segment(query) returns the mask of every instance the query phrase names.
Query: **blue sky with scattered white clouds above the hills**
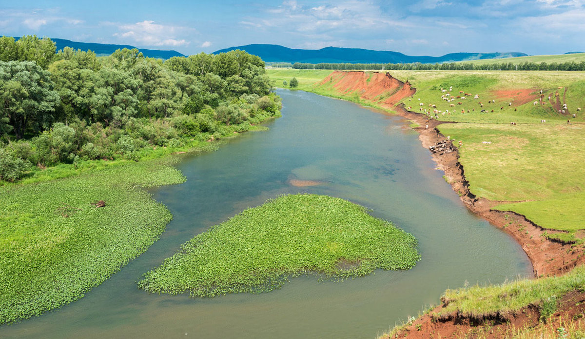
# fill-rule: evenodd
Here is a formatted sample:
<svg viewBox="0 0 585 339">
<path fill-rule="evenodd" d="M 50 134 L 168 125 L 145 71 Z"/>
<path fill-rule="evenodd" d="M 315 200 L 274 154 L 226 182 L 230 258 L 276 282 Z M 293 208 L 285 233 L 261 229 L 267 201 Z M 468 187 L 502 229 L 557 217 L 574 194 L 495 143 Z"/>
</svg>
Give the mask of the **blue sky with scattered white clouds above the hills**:
<svg viewBox="0 0 585 339">
<path fill-rule="evenodd" d="M 585 51 L 585 0 L 0 0 L 0 35 L 29 34 L 184 54 L 250 43 L 562 54 Z"/>
</svg>

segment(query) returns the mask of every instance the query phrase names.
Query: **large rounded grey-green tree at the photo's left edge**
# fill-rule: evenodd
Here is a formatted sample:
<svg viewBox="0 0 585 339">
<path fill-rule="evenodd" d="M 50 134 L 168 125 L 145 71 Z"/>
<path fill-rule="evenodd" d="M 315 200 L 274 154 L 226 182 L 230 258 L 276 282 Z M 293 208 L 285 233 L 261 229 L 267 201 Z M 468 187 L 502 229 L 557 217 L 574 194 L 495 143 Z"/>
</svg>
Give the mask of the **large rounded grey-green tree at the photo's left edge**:
<svg viewBox="0 0 585 339">
<path fill-rule="evenodd" d="M 8 118 L 17 139 L 32 124 L 50 125 L 60 100 L 50 75 L 32 61 L 0 61 L 0 123 Z"/>
</svg>

